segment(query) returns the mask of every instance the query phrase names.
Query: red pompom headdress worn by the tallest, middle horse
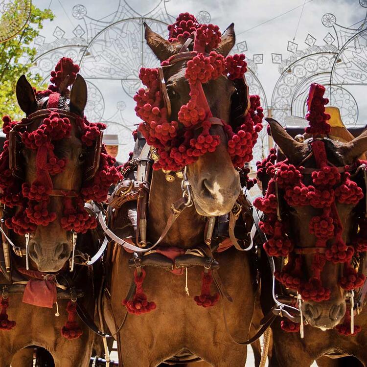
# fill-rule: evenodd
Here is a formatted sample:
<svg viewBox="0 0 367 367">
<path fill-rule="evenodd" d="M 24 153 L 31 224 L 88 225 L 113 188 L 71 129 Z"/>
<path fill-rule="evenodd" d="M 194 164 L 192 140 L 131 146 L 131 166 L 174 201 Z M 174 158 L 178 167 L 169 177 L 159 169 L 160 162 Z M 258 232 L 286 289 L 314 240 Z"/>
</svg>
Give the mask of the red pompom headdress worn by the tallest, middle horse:
<svg viewBox="0 0 367 367">
<path fill-rule="evenodd" d="M 159 69 L 142 68 L 139 78 L 147 88 L 140 89 L 134 100 L 137 102 L 135 111 L 143 120 L 139 130 L 147 143 L 156 148 L 159 156 L 154 169 L 178 171 L 206 152 L 214 152 L 220 143 L 219 136 L 209 132 L 212 114 L 202 84 L 221 75 L 227 75 L 231 80 L 243 78 L 247 64 L 243 54 L 224 58 L 213 50 L 221 41 L 217 25 L 199 24 L 193 15 L 183 13 L 174 24 L 168 26 L 168 30 L 170 42 L 184 42 L 190 37 L 194 39 L 196 55 L 187 62 L 185 70 L 190 99 L 181 106 L 178 121 L 170 120 L 160 90 Z M 163 61 L 161 65 L 170 65 L 174 57 Z M 229 137 L 229 155 L 238 167 L 252 160 L 252 147 L 262 128 L 263 109 L 260 107 L 260 98 L 253 95 L 250 103 L 249 112 L 243 116 L 235 132 L 230 125 L 225 124 Z M 199 127 L 202 127 L 202 132 L 195 137 L 195 129 Z"/>
</svg>

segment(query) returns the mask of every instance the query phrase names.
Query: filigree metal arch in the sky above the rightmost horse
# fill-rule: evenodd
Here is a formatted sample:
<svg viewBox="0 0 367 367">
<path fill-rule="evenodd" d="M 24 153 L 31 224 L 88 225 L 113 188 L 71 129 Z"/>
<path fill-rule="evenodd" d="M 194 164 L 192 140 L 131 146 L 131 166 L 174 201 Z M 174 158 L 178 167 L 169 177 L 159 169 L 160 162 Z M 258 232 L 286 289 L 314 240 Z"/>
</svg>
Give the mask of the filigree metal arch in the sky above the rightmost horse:
<svg viewBox="0 0 367 367">
<path fill-rule="evenodd" d="M 367 8 L 366 0 L 359 3 Z M 358 105 L 348 86 L 367 85 L 367 9 L 355 28 L 336 23 L 331 13 L 324 14 L 321 22 L 335 34 L 326 34 L 325 45 L 317 46 L 316 38 L 308 34 L 304 41 L 308 47 L 304 50 L 298 50 L 299 45 L 289 41 L 289 58 L 282 60 L 281 54 L 272 54 L 280 73 L 272 94 L 272 115 L 280 122 L 287 115 L 303 117 L 308 87 L 318 82 L 327 87 L 326 96 L 330 104 L 341 110 L 344 124 L 355 125 Z"/>
</svg>

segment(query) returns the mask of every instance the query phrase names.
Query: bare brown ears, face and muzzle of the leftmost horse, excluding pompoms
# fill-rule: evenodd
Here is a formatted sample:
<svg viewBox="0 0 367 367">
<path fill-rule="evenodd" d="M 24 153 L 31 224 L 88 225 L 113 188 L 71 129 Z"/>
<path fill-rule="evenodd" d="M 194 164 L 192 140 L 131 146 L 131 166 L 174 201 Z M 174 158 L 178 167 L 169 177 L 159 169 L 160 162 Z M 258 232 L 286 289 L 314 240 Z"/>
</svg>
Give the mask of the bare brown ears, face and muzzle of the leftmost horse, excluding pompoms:
<svg viewBox="0 0 367 367">
<path fill-rule="evenodd" d="M 17 83 L 17 99 L 22 110 L 30 115 L 38 109 L 43 108 L 42 99 L 37 100 L 33 88 L 21 76 Z M 58 109 L 65 110 L 83 116 L 84 107 L 87 102 L 87 86 L 84 79 L 78 75 L 70 92 L 70 104 L 66 98 L 60 98 Z M 43 117 L 35 118 L 29 132 L 35 131 L 41 125 Z M 52 177 L 55 190 L 79 192 L 83 180 L 83 164 L 86 159 L 86 151 L 80 140 L 80 131 L 75 117 L 70 115 L 72 126 L 68 138 L 53 142 L 53 152 L 57 160 L 64 160 L 65 168 Z M 25 160 L 25 182 L 31 185 L 37 180 L 38 152 L 24 146 L 22 149 Z M 68 260 L 72 251 L 71 233 L 61 226 L 61 218 L 64 210 L 64 197 L 51 196 L 47 210 L 55 214 L 55 220 L 48 225 L 37 226 L 29 241 L 29 256 L 37 264 L 38 270 L 42 272 L 54 272 L 60 270 Z"/>
</svg>

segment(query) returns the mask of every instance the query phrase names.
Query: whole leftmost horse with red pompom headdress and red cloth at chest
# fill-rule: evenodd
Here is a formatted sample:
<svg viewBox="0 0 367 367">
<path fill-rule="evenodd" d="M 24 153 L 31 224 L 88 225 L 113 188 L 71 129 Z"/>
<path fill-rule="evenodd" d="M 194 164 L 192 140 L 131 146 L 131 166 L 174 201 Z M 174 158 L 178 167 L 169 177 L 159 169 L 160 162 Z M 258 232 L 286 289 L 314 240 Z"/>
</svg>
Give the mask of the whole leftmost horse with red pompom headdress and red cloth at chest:
<svg viewBox="0 0 367 367">
<path fill-rule="evenodd" d="M 3 118 L 9 145 L 1 156 L 1 367 L 29 346 L 48 350 L 56 367 L 89 366 L 94 334 L 78 322 L 76 301 L 94 315 L 95 279 L 86 253 L 96 251 L 101 237 L 81 191 L 88 190 L 85 168 L 95 178 L 113 159 L 101 152 L 102 125 L 84 118 L 87 85 L 78 70 L 62 58 L 51 73 L 53 85 L 42 92 L 21 76 L 16 94 L 27 118 Z M 95 134 L 89 145 L 87 131 Z M 101 198 L 109 184 L 101 183 Z M 26 365 L 29 354 L 16 355 L 12 366 Z"/>
</svg>

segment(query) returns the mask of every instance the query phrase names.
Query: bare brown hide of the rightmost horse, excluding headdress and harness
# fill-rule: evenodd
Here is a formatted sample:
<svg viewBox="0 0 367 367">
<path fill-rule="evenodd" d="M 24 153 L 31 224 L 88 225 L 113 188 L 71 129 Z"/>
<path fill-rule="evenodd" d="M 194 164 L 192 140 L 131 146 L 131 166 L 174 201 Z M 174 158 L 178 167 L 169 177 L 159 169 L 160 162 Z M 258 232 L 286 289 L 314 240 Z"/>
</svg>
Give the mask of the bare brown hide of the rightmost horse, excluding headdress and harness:
<svg viewBox="0 0 367 367">
<path fill-rule="evenodd" d="M 268 119 L 268 122 L 274 141 L 290 163 L 297 166 L 302 162 L 304 167 L 316 167 L 313 157 L 306 159 L 311 151 L 308 140 L 304 142 L 296 141 L 275 120 Z M 326 139 L 325 149 L 328 161 L 335 166 L 350 165 L 367 150 L 367 131 L 348 143 Z M 308 180 L 307 175 L 305 177 L 304 180 Z M 305 181 L 305 184 L 309 183 Z M 358 184 L 364 188 L 363 179 Z M 283 205 L 281 195 L 279 193 L 281 205 Z M 320 211 L 312 206 L 287 207 L 287 210 L 290 212 L 290 228 L 293 229 L 291 236 L 294 243 L 297 243 L 301 248 L 316 246 L 316 237 L 309 233 L 308 223 Z M 355 210 L 355 205 L 337 204 L 337 211 L 344 228 L 343 239 L 346 243 L 349 243 L 358 210 Z M 302 272 L 310 275 L 312 274 L 312 268 L 311 258 L 309 257 L 312 255 L 305 254 L 302 256 L 305 258 Z M 367 342 L 367 312 L 363 310 L 360 315 L 354 318 L 355 324 L 362 326 L 362 331 L 357 335 L 344 336 L 334 328 L 335 325 L 341 322 L 346 309 L 346 292 L 338 284 L 339 275 L 343 271 L 342 266 L 343 264 L 340 263 L 326 262 L 322 271 L 322 285 L 331 291 L 329 300 L 303 302 L 302 311 L 307 321 L 307 325 L 304 326 L 303 339 L 300 338 L 299 333 L 283 331 L 280 328 L 280 320 L 275 320 L 272 325 L 274 348 L 270 366 L 309 367 L 322 355 L 332 356 L 338 354 L 355 356 L 364 366 L 367 366 L 367 350 L 362 347 Z M 344 365 L 342 360 L 322 357 L 317 362 L 319 366 L 359 366 L 358 362 L 354 361 L 349 361 Z"/>
</svg>

